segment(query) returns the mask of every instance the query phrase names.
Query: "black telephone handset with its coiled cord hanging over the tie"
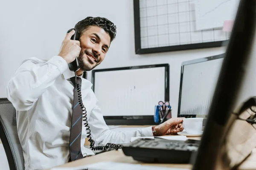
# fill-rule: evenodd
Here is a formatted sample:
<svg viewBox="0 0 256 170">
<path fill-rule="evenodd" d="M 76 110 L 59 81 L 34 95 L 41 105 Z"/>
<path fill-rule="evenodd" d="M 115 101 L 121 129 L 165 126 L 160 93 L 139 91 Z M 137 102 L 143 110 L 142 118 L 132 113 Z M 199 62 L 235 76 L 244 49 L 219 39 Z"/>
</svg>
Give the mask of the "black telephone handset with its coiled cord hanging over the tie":
<svg viewBox="0 0 256 170">
<path fill-rule="evenodd" d="M 71 28 L 70 30 L 67 31 L 67 33 L 69 33 L 70 31 L 75 30 L 75 34 L 70 38 L 71 40 L 79 40 L 79 33 L 77 32 L 77 30 L 75 28 Z M 95 142 L 91 137 L 90 134 L 90 127 L 87 121 L 87 111 L 86 108 L 84 107 L 83 101 L 82 101 L 82 95 L 81 95 L 81 86 L 79 85 L 79 83 L 77 83 L 76 81 L 76 71 L 79 69 L 79 63 L 78 63 L 78 59 L 76 57 L 76 59 L 73 62 L 69 63 L 69 69 L 70 71 L 74 71 L 75 72 L 75 82 L 76 82 L 76 89 L 77 89 L 77 93 L 78 93 L 78 102 L 79 102 L 79 106 L 82 110 L 82 114 L 83 114 L 83 121 L 84 121 L 84 127 L 86 127 L 86 132 L 87 132 L 87 138 L 89 138 L 89 142 L 90 142 L 90 149 L 91 150 L 105 150 L 108 148 L 114 148 L 116 150 L 118 149 L 122 149 L 122 145 L 121 144 L 112 144 L 112 143 L 107 143 L 105 146 L 94 146 Z"/>
</svg>

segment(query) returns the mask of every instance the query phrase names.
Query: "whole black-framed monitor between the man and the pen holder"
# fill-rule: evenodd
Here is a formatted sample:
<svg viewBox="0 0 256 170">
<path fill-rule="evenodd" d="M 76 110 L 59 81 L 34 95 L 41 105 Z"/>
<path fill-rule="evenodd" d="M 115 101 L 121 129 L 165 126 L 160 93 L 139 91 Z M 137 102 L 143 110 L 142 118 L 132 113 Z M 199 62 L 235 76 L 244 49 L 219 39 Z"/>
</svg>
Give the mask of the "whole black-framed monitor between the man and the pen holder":
<svg viewBox="0 0 256 170">
<path fill-rule="evenodd" d="M 154 106 L 169 101 L 169 64 L 95 69 L 92 83 L 107 125 L 154 125 Z"/>
</svg>

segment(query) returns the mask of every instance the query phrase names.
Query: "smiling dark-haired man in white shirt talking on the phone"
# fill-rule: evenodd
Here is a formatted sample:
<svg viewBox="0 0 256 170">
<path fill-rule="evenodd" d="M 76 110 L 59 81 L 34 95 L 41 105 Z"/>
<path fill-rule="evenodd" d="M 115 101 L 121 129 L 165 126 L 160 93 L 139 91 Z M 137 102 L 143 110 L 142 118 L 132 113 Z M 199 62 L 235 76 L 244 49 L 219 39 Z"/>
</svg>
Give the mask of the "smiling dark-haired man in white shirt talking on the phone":
<svg viewBox="0 0 256 170">
<path fill-rule="evenodd" d="M 79 41 L 70 40 L 74 34 L 71 31 L 64 38 L 57 56 L 48 61 L 26 59 L 8 83 L 7 96 L 17 110 L 17 130 L 26 170 L 47 169 L 68 162 L 73 152 L 70 151 L 71 146 L 81 150 L 75 159 L 79 154 L 81 157 L 94 155 L 92 150 L 84 147 L 87 138 L 84 122 L 76 124 L 81 128 L 76 137 L 79 143 L 70 142 L 77 141 L 71 140 L 73 132 L 70 133 L 74 125 L 71 126 L 71 122 L 76 107 L 73 104 L 76 90 L 73 91 L 72 78 L 65 76 L 64 72 L 68 71 L 67 64 L 77 56 L 80 67 L 76 71 L 78 77 L 99 65 L 116 36 L 116 26 L 106 18 L 87 17 L 77 23 L 75 28 L 80 34 Z M 91 136 L 97 146 L 104 146 L 108 142 L 124 144 L 135 136 L 162 136 L 183 130 L 182 119 L 176 118 L 131 132 L 111 132 L 105 124 L 91 86 L 88 80 L 81 80 L 82 101 Z"/>
</svg>

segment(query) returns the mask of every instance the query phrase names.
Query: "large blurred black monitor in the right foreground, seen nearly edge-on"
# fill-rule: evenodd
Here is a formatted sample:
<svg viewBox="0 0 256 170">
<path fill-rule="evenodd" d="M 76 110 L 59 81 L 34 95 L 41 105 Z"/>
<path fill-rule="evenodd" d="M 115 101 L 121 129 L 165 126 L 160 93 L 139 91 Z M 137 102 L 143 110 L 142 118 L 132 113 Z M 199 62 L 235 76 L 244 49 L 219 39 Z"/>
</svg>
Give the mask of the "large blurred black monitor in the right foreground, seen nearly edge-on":
<svg viewBox="0 0 256 170">
<path fill-rule="evenodd" d="M 192 156 L 195 158 L 193 170 L 231 169 L 233 165 L 237 166 L 236 161 L 242 161 L 248 156 L 252 149 L 248 149 L 248 146 L 255 144 L 255 139 L 253 142 L 248 141 L 256 133 L 253 119 L 250 119 L 252 122 L 247 122 L 248 116 L 240 117 L 243 114 L 243 102 L 256 96 L 255 31 L 256 1 L 240 0 L 201 144 L 196 156 Z M 255 114 L 255 111 L 252 113 Z M 236 119 L 233 119 L 234 116 Z M 245 126 L 239 126 L 236 122 L 244 122 L 249 126 L 244 128 Z M 242 128 L 242 132 L 234 131 L 231 136 L 233 140 L 230 140 L 231 130 L 235 126 L 237 129 Z M 232 143 L 241 139 L 239 144 Z M 232 158 L 230 153 L 234 151 L 237 155 Z"/>
</svg>

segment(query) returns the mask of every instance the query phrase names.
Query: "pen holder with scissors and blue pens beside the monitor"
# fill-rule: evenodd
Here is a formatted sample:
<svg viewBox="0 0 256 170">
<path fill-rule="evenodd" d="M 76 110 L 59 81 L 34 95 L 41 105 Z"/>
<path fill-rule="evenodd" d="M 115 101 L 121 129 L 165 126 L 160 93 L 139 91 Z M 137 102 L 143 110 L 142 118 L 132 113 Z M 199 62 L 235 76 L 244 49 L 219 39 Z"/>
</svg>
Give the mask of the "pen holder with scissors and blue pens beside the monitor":
<svg viewBox="0 0 256 170">
<path fill-rule="evenodd" d="M 154 112 L 154 122 L 157 124 L 161 124 L 164 121 L 172 118 L 172 110 L 171 105 L 169 101 L 160 101 L 158 102 L 158 105 L 155 106 L 155 112 Z"/>
</svg>

